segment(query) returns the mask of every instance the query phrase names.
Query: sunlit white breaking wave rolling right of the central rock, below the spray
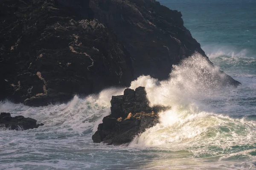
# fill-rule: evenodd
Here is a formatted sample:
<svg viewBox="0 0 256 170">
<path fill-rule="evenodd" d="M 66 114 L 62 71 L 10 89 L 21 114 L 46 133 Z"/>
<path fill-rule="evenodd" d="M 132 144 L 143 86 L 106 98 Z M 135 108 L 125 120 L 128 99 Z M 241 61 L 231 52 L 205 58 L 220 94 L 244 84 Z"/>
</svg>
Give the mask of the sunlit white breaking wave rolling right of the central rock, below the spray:
<svg viewBox="0 0 256 170">
<path fill-rule="evenodd" d="M 142 133 L 130 146 L 189 150 L 195 157 L 222 156 L 256 149 L 254 121 L 232 119 L 192 108 L 174 106 L 172 110 L 160 113 L 160 123 Z"/>
</svg>

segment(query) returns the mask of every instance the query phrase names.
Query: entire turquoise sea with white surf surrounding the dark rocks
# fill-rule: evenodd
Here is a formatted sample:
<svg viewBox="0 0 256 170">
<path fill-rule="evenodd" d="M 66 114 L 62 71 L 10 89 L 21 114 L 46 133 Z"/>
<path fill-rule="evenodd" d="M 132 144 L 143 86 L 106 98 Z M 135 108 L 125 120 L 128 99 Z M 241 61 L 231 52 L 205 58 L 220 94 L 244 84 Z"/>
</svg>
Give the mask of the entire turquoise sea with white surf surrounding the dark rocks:
<svg viewBox="0 0 256 170">
<path fill-rule="evenodd" d="M 151 105 L 172 109 L 128 146 L 93 143 L 110 114 L 108 88 L 67 104 L 33 108 L 0 102 L 0 112 L 44 123 L 38 129 L 0 128 L 1 170 L 256 170 L 256 1 L 160 0 L 181 11 L 184 25 L 216 68 L 199 54 L 174 66 L 170 78 L 138 77 Z M 221 69 L 242 85 L 221 87 L 204 79 Z"/>
</svg>

